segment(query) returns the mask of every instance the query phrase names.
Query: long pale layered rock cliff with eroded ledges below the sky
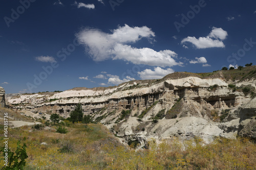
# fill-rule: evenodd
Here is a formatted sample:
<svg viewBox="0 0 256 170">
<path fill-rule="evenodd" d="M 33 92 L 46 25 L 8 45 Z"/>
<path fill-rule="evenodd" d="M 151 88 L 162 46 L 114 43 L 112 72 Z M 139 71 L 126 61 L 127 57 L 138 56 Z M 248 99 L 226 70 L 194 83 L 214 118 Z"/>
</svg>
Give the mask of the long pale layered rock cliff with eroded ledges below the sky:
<svg viewBox="0 0 256 170">
<path fill-rule="evenodd" d="M 7 95 L 7 101 L 13 109 L 58 113 L 66 118 L 81 103 L 84 114 L 92 115 L 94 122 L 106 125 L 121 141 L 140 142 L 141 147 L 152 138 L 200 136 L 206 142 L 216 136 L 256 138 L 253 76 L 240 81 L 225 79 L 221 71 L 207 78 L 173 75 L 106 88 Z"/>
</svg>

